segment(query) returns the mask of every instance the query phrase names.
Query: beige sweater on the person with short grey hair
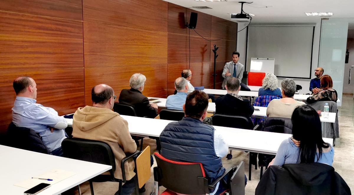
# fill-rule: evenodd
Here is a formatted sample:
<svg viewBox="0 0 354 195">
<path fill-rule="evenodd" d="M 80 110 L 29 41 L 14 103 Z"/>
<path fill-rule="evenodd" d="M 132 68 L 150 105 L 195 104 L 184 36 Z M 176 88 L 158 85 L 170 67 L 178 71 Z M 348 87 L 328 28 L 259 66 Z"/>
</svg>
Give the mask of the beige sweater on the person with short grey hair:
<svg viewBox="0 0 354 195">
<path fill-rule="evenodd" d="M 267 117 L 291 118 L 292 112 L 297 106 L 304 105 L 304 102 L 296 101 L 294 104 L 285 104 L 281 99 L 273 99 L 267 106 Z"/>
</svg>

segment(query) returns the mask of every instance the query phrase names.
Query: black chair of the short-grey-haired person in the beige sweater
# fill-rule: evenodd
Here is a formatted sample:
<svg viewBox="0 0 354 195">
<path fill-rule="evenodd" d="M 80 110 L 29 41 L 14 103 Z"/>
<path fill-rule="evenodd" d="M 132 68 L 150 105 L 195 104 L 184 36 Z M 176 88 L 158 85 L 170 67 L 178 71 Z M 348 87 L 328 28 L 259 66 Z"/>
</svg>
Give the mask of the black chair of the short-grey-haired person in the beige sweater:
<svg viewBox="0 0 354 195">
<path fill-rule="evenodd" d="M 258 130 L 282 134 L 292 134 L 291 118 L 268 117 L 264 119 Z M 265 170 L 267 170 L 270 161 L 272 161 L 274 158 L 275 156 L 271 154 L 258 154 L 258 166 L 261 167 L 261 175 L 259 176 L 259 179 L 262 178 L 263 167 L 265 167 Z"/>
</svg>

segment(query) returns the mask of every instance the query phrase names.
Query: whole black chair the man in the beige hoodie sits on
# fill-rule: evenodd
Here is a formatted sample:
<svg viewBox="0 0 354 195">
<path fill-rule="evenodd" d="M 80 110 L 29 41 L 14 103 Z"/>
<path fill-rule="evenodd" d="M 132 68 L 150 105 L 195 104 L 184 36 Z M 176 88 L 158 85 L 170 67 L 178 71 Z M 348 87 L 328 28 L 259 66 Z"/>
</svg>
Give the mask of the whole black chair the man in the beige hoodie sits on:
<svg viewBox="0 0 354 195">
<path fill-rule="evenodd" d="M 127 155 L 122 159 L 122 179 L 117 179 L 114 177 L 114 154 L 107 143 L 96 140 L 85 140 L 80 138 L 66 138 L 62 142 L 62 149 L 64 157 L 112 166 L 112 169 L 108 171 L 109 175 L 98 175 L 89 180 L 91 195 L 94 195 L 92 182 L 119 182 L 120 195 L 122 183 L 126 182 L 124 164 L 127 160 L 132 159 L 133 157 L 136 157 L 140 154 L 140 151 L 137 150 L 135 153 Z M 136 177 L 134 177 L 134 179 L 136 182 Z"/>
</svg>

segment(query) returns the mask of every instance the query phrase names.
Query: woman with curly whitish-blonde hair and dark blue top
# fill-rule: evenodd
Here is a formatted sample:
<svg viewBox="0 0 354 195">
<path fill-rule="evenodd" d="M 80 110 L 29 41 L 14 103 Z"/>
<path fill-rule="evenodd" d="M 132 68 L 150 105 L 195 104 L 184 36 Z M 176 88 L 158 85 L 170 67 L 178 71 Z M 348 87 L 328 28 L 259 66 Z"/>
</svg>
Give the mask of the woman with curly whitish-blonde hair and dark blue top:
<svg viewBox="0 0 354 195">
<path fill-rule="evenodd" d="M 278 78 L 272 73 L 268 73 L 262 80 L 262 88 L 258 90 L 258 96 L 277 95 L 281 97 L 281 90 L 278 88 Z"/>
</svg>

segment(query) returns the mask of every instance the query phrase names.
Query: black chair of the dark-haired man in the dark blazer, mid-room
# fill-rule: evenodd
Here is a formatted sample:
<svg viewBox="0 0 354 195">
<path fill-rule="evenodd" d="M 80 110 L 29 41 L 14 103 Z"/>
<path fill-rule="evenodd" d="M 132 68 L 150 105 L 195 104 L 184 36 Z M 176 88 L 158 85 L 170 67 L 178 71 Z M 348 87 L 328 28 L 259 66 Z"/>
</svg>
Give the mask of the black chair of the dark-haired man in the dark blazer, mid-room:
<svg viewBox="0 0 354 195">
<path fill-rule="evenodd" d="M 244 116 L 232 116 L 226 114 L 214 114 L 213 125 L 216 126 L 225 126 L 231 128 L 240 128 L 240 129 L 250 129 L 256 130 L 259 125 L 253 125 L 250 117 Z M 228 154 L 226 156 L 227 159 L 232 159 L 232 154 Z M 257 153 L 250 152 L 250 164 L 249 164 L 249 180 L 251 180 L 251 168 L 252 165 L 255 165 L 255 169 L 257 169 Z"/>
</svg>

